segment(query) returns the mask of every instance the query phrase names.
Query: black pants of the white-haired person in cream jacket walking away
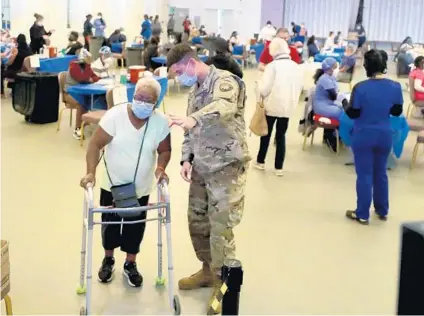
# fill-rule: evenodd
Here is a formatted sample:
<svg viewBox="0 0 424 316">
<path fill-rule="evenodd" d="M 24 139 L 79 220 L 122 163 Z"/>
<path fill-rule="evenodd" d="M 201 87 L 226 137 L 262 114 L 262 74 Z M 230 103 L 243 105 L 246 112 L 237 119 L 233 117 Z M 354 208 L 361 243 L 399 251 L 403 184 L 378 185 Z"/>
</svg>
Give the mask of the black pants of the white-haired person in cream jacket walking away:
<svg viewBox="0 0 424 316">
<path fill-rule="evenodd" d="M 286 131 L 289 125 L 287 117 L 266 116 L 268 123 L 268 135 L 261 137 L 261 145 L 257 157 L 258 163 L 265 163 L 265 157 L 268 152 L 269 140 L 271 138 L 272 130 L 275 122 L 277 122 L 277 130 L 275 132 L 275 163 L 274 167 L 277 170 L 283 169 L 284 159 L 286 157 Z"/>
</svg>

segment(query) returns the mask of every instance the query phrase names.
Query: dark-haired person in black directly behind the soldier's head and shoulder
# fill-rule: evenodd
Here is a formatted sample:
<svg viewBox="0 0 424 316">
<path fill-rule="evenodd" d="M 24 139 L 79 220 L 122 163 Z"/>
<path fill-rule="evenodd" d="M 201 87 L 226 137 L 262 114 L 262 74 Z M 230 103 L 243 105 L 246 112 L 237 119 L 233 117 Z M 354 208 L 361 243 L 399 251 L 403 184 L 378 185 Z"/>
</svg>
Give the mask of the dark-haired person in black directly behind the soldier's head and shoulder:
<svg viewBox="0 0 424 316">
<path fill-rule="evenodd" d="M 214 41 L 216 55 L 209 57 L 206 65 L 214 65 L 217 69 L 227 70 L 232 74 L 243 78 L 243 71 L 237 61 L 231 56 L 228 42 L 223 38 L 217 38 Z"/>
</svg>

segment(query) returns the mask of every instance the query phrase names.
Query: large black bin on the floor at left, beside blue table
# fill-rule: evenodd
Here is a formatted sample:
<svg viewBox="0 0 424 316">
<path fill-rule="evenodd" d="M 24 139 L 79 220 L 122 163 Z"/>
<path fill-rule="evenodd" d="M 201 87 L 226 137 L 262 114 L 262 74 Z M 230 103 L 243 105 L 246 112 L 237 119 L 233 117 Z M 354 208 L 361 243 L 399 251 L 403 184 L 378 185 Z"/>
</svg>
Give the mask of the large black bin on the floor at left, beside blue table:
<svg viewBox="0 0 424 316">
<path fill-rule="evenodd" d="M 57 122 L 59 113 L 57 73 L 19 73 L 13 87 L 12 105 L 28 122 L 38 124 Z"/>
</svg>

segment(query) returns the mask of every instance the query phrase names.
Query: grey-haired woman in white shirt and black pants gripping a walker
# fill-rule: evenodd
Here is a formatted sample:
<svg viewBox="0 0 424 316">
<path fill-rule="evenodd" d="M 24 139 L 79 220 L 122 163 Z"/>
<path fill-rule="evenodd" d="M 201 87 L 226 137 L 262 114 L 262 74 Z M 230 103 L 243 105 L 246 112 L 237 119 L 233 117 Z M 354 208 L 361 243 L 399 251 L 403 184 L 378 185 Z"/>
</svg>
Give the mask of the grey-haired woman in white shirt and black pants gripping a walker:
<svg viewBox="0 0 424 316">
<path fill-rule="evenodd" d="M 168 176 L 165 169 L 171 158 L 171 133 L 168 118 L 155 110 L 161 93 L 160 84 L 153 78 L 137 82 L 134 99 L 130 103 L 111 108 L 100 120 L 90 140 L 86 155 L 87 172 L 80 185 L 100 186 L 100 205 L 114 205 L 111 188 L 132 183 L 134 198 L 140 206 L 149 204 L 149 196 L 155 183 Z M 104 152 L 103 159 L 100 153 Z M 103 165 L 100 177 L 98 164 Z M 126 254 L 123 274 L 131 287 L 140 287 L 143 276 L 137 269 L 136 258 L 143 241 L 146 222 L 128 225 L 108 225 L 107 222 L 143 221 L 147 212 L 122 218 L 117 213 L 103 213 L 102 239 L 104 258 L 98 272 L 98 280 L 109 283 L 115 270 L 114 250 L 120 248 Z"/>
</svg>

